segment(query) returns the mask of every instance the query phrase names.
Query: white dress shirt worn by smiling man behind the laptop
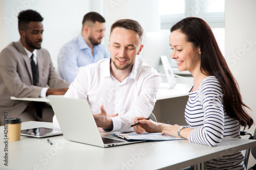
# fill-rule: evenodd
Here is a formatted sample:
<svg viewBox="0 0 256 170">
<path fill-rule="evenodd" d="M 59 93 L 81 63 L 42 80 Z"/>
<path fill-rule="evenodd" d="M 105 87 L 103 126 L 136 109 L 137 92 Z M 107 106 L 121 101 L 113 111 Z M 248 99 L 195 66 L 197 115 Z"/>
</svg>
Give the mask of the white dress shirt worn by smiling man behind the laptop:
<svg viewBox="0 0 256 170">
<path fill-rule="evenodd" d="M 107 114 L 119 113 L 111 117 L 112 131 L 131 131 L 127 128 L 135 117 L 148 117 L 154 109 L 160 82 L 158 72 L 136 58 L 131 74 L 120 83 L 110 73 L 110 59 L 102 59 L 78 73 L 65 97 L 87 100 L 93 114 L 104 105 Z M 53 122 L 59 127 L 56 118 Z"/>
</svg>

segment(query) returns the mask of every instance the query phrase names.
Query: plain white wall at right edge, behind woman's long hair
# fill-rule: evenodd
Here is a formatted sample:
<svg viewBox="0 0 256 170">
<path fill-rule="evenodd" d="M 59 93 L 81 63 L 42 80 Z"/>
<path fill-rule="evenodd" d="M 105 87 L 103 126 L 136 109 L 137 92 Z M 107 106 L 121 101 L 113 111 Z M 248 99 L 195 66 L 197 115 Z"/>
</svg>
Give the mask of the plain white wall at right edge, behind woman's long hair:
<svg viewBox="0 0 256 170">
<path fill-rule="evenodd" d="M 226 0 L 225 58 L 240 86 L 243 102 L 256 124 L 256 1 Z M 254 133 L 256 126 L 249 130 Z M 255 159 L 250 156 L 249 166 Z"/>
</svg>

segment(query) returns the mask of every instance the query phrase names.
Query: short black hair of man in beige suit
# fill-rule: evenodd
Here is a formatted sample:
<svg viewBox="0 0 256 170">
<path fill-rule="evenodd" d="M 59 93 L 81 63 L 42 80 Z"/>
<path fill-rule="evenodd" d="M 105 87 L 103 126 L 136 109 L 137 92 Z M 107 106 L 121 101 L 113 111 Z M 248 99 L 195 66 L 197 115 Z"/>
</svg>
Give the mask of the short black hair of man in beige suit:
<svg viewBox="0 0 256 170">
<path fill-rule="evenodd" d="M 21 11 L 18 14 L 18 30 L 26 30 L 30 21 L 41 22 L 44 18 L 34 10 Z"/>
</svg>

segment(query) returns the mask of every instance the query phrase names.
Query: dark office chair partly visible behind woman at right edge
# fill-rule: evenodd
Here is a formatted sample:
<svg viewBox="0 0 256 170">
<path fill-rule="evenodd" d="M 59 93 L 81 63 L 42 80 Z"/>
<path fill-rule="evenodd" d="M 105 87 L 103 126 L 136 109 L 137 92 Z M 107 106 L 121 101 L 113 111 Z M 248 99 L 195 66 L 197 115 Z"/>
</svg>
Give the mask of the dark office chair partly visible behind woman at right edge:
<svg viewBox="0 0 256 170">
<path fill-rule="evenodd" d="M 240 135 L 241 136 L 245 136 L 245 135 L 249 135 L 249 139 L 256 139 L 256 129 L 254 131 L 254 134 L 252 136 L 252 134 L 250 132 L 245 132 L 245 131 L 241 131 L 240 132 Z M 245 155 L 244 155 L 244 164 L 245 164 L 245 167 L 247 169 L 247 164 L 248 164 L 248 160 L 249 160 L 249 155 L 250 155 L 250 151 L 251 151 L 251 155 L 256 159 L 256 147 L 254 148 L 249 148 L 245 151 Z M 256 170 L 256 164 L 250 168 L 248 168 L 248 170 Z"/>
</svg>

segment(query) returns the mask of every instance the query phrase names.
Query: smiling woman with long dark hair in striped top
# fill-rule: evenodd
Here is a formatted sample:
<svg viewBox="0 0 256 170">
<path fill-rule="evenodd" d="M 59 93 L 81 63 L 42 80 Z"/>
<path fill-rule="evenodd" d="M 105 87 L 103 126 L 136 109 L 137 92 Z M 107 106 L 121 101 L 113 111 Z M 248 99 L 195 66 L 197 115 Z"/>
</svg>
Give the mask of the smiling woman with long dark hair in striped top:
<svg viewBox="0 0 256 170">
<path fill-rule="evenodd" d="M 180 71 L 194 78 L 185 108 L 188 126 L 166 125 L 136 117 L 137 133 L 162 132 L 191 142 L 215 146 L 223 137 L 240 137 L 240 127 L 250 128 L 252 118 L 245 110 L 238 84 L 229 70 L 208 24 L 201 18 L 182 19 L 170 29 L 172 59 Z M 248 108 L 248 107 L 247 107 Z M 245 169 L 241 152 L 207 162 L 207 169 Z"/>
</svg>

